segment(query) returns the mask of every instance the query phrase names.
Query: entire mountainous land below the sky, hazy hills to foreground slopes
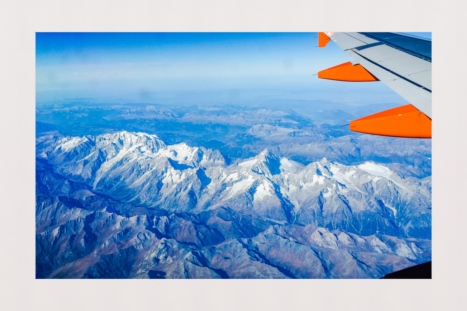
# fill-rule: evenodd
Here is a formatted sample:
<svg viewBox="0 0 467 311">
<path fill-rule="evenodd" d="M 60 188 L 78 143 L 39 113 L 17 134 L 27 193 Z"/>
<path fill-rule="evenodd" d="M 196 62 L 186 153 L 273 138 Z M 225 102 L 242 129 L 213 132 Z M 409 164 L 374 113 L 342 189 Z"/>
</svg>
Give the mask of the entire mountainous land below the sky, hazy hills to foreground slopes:
<svg viewBox="0 0 467 311">
<path fill-rule="evenodd" d="M 187 98 L 37 103 L 37 278 L 379 278 L 431 260 L 431 140 L 342 126 L 401 104 Z"/>
</svg>

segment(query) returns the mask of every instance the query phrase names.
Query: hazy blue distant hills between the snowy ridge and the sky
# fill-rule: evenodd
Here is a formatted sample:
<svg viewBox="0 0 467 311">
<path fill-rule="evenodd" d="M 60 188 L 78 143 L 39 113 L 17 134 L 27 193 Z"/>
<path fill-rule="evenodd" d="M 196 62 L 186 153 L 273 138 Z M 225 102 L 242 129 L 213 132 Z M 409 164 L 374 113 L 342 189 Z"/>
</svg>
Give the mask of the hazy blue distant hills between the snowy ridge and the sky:
<svg viewBox="0 0 467 311">
<path fill-rule="evenodd" d="M 430 139 L 365 135 L 340 127 L 398 104 L 359 106 L 291 99 L 266 104 L 42 103 L 36 107 L 36 137 L 54 131 L 70 136 L 146 132 L 168 144 L 217 149 L 227 162 L 268 149 L 304 165 L 323 157 L 346 165 L 371 160 L 403 176 L 431 175 L 431 157 L 425 156 L 432 153 Z"/>
</svg>

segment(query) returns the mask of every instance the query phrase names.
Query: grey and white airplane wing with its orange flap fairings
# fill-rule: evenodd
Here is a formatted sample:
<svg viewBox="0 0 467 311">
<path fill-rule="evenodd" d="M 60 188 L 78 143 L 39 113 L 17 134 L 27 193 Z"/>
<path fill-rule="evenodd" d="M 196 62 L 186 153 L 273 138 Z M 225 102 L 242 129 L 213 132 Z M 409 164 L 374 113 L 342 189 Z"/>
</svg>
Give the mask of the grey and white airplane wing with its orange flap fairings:
<svg viewBox="0 0 467 311">
<path fill-rule="evenodd" d="M 432 137 L 432 41 L 402 33 L 318 33 L 318 46 L 334 41 L 353 60 L 318 72 L 318 78 L 382 81 L 410 104 L 350 122 L 350 130 L 407 137 Z"/>
</svg>

